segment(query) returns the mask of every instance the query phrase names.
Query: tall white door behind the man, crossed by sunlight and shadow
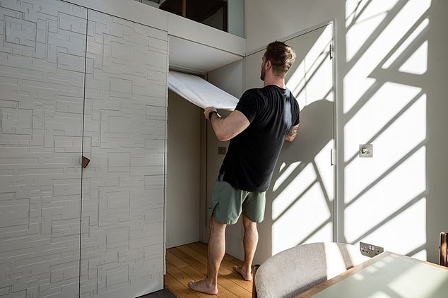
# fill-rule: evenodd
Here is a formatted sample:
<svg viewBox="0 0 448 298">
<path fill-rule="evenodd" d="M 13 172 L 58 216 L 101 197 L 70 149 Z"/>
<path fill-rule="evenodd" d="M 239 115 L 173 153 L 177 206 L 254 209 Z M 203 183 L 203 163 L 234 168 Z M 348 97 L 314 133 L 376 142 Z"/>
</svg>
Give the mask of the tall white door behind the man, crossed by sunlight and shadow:
<svg viewBox="0 0 448 298">
<path fill-rule="evenodd" d="M 300 105 L 300 130 L 285 142 L 259 225 L 256 261 L 307 242 L 332 241 L 334 234 L 334 89 L 332 25 L 285 40 L 297 53 L 287 87 Z M 245 89 L 260 88 L 264 49 L 245 59 Z"/>
</svg>

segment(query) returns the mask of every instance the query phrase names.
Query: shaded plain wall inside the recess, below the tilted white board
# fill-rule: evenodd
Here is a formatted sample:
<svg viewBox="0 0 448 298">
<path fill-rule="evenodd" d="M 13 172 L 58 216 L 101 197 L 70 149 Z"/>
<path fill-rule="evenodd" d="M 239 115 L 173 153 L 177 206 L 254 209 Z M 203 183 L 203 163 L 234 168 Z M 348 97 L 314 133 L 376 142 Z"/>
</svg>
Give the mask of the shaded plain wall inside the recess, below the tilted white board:
<svg viewBox="0 0 448 298">
<path fill-rule="evenodd" d="M 168 92 L 167 248 L 199 241 L 202 111 Z"/>
</svg>

